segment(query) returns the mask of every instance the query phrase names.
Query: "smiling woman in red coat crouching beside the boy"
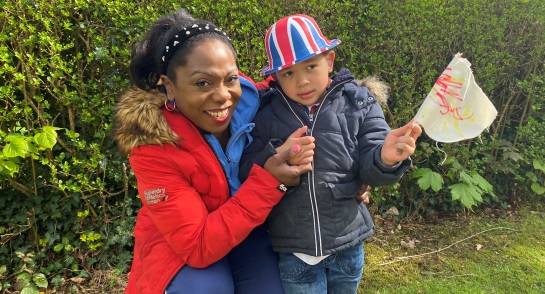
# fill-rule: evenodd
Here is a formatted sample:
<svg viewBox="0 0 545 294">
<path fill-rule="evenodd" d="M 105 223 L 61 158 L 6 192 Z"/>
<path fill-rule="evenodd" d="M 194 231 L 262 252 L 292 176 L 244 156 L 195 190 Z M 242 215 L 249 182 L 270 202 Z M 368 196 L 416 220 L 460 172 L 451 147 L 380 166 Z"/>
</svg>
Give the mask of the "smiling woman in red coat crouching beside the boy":
<svg viewBox="0 0 545 294">
<path fill-rule="evenodd" d="M 312 160 L 313 138 L 238 180 L 258 108 L 229 39 L 184 10 L 157 20 L 133 48 L 135 87 L 117 105 L 114 138 L 129 154 L 143 207 L 127 293 L 283 293 L 261 226 Z M 272 146 L 271 146 L 272 148 Z"/>
</svg>

